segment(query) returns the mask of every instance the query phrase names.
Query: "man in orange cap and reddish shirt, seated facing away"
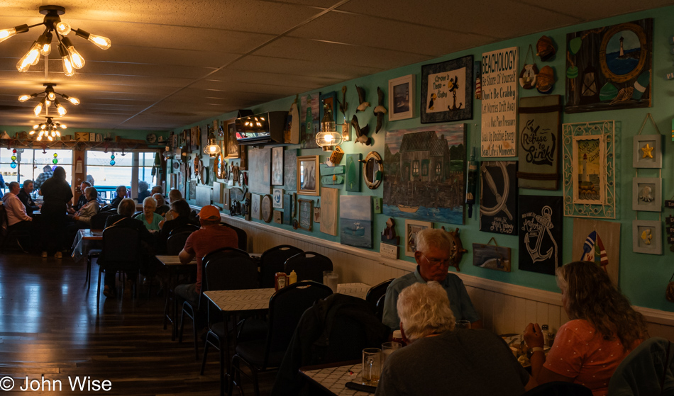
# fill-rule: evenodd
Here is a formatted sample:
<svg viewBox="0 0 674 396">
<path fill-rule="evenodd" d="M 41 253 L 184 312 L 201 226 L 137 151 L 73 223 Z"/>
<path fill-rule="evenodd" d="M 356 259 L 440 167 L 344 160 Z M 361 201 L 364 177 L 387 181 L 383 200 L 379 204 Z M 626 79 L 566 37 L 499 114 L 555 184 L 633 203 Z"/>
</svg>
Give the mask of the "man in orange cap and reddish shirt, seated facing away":
<svg viewBox="0 0 674 396">
<path fill-rule="evenodd" d="M 201 295 L 201 273 L 203 273 L 201 258 L 223 247 L 238 248 L 236 232 L 230 227 L 221 227 L 220 210 L 214 205 L 201 208 L 199 222 L 201 228 L 187 237 L 185 247 L 179 254 L 182 264 L 187 264 L 197 257 L 197 283 L 175 287 L 175 294 L 191 302 L 193 307 L 199 305 L 199 295 Z"/>
</svg>

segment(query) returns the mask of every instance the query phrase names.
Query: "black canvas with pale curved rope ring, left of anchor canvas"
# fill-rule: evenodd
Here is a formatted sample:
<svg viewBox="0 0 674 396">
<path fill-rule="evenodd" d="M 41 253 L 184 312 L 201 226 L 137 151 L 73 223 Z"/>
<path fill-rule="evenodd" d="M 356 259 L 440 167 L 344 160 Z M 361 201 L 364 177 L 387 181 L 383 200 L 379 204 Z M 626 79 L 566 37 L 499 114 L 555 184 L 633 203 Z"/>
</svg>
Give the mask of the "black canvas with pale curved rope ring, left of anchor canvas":
<svg viewBox="0 0 674 396">
<path fill-rule="evenodd" d="M 517 162 L 480 164 L 480 231 L 517 234 Z"/>
</svg>

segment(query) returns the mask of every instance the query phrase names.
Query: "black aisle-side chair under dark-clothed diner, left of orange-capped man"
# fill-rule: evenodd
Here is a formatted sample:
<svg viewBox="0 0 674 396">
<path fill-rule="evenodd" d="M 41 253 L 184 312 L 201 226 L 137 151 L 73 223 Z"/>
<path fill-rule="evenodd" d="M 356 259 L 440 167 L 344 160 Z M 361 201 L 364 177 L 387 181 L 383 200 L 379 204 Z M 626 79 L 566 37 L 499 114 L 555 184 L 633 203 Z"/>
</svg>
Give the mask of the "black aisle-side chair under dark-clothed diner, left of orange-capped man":
<svg viewBox="0 0 674 396">
<path fill-rule="evenodd" d="M 96 293 L 100 292 L 101 275 L 104 271 L 133 272 L 138 276 L 140 270 L 140 233 L 128 227 L 112 225 L 103 231 L 103 247 L 99 264 L 99 281 Z M 138 283 L 138 282 L 136 282 Z M 96 299 L 96 307 L 99 301 Z"/>
</svg>

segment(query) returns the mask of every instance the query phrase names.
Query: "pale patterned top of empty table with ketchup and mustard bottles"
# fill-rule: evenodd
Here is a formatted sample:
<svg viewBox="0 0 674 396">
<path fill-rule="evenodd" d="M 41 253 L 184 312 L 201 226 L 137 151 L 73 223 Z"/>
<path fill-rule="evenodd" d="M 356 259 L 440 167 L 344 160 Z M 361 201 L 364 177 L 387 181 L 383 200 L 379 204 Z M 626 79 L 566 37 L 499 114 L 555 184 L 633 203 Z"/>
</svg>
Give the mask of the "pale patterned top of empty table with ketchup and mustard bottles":
<svg viewBox="0 0 674 396">
<path fill-rule="evenodd" d="M 159 256 L 158 256 L 159 257 Z M 363 298 L 368 294 L 370 285 L 365 283 L 340 283 L 337 293 L 353 295 Z M 250 310 L 266 310 L 269 308 L 269 299 L 275 293 L 273 288 L 243 289 L 243 290 L 209 290 L 204 292 L 209 300 L 223 312 L 238 312 Z"/>
</svg>

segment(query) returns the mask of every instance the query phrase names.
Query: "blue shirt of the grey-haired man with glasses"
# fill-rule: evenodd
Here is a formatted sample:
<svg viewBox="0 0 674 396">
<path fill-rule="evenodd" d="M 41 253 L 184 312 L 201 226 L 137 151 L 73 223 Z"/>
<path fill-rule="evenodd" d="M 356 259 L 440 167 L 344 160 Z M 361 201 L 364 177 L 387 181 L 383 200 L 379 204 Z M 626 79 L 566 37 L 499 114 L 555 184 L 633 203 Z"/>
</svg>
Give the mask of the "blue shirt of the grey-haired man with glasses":
<svg viewBox="0 0 674 396">
<path fill-rule="evenodd" d="M 402 289 L 414 285 L 414 283 L 426 283 L 424 278 L 421 278 L 419 266 L 416 266 L 416 271 L 396 278 L 386 289 L 382 322 L 393 330 L 400 329 L 400 318 L 398 317 L 397 309 L 398 295 L 402 292 Z M 453 273 L 448 273 L 447 278 L 440 282 L 440 285 L 447 292 L 449 305 L 457 321 L 468 320 L 470 323 L 473 323 L 480 320 L 480 315 L 477 315 L 477 312 L 475 312 L 473 302 L 470 301 L 470 296 L 465 291 L 461 278 L 455 276 Z"/>
</svg>

